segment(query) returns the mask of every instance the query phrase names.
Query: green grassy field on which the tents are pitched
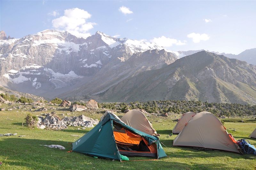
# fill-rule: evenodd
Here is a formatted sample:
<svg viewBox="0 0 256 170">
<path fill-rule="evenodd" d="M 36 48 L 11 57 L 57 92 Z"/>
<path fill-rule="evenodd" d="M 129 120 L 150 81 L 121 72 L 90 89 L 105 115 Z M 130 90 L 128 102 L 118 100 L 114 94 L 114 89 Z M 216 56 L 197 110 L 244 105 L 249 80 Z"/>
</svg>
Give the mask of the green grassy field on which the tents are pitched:
<svg viewBox="0 0 256 170">
<path fill-rule="evenodd" d="M 23 105 L 21 105 L 23 106 Z M 10 107 L 3 105 L 2 107 Z M 202 151 L 193 148 L 172 146 L 173 139 L 177 135 L 168 137 L 176 124 L 173 119 L 180 115 L 169 117 L 150 115 L 149 121 L 161 135 L 160 140 L 168 157 L 154 161 L 133 161 L 140 159 L 152 159 L 145 157 L 129 157 L 130 161 L 112 161 L 108 159 L 93 158 L 71 150 L 71 144 L 82 137 L 91 128 L 77 130 L 78 127 L 68 127 L 64 130 L 30 129 L 22 126 L 25 116 L 30 113 L 26 108 L 12 111 L 0 111 L 0 134 L 17 133 L 16 136 L 0 137 L 0 161 L 3 163 L 0 169 L 256 169 L 256 156 L 241 155 L 231 152 Z M 58 108 L 58 107 L 56 107 Z M 18 111 L 18 112 L 17 112 Z M 44 113 L 50 113 L 53 110 Z M 33 112 L 40 115 L 43 112 Z M 71 115 L 86 115 L 92 118 L 100 118 L 101 113 L 72 112 L 65 110 L 56 111 L 57 115 L 71 113 Z M 123 115 L 119 113 L 117 115 Z M 256 128 L 253 122 L 225 122 L 227 129 L 235 128 L 232 133 L 236 139 L 247 138 L 251 144 L 256 145 L 256 139 L 248 138 Z M 18 137 L 25 135 L 26 137 Z M 60 144 L 65 151 L 52 149 L 40 145 Z"/>
</svg>

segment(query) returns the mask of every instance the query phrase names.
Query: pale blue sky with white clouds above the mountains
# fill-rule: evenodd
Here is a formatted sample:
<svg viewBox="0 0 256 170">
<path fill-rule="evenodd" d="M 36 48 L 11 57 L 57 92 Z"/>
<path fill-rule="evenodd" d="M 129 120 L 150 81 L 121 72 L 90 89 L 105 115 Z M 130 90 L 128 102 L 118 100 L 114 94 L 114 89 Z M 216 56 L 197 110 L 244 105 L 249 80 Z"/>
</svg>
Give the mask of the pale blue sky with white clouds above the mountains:
<svg viewBox="0 0 256 170">
<path fill-rule="evenodd" d="M 80 36 L 101 31 L 156 42 L 173 51 L 238 54 L 256 48 L 256 1 L 44 0 L 0 1 L 0 5 L 0 30 L 15 38 L 59 29 Z"/>
</svg>

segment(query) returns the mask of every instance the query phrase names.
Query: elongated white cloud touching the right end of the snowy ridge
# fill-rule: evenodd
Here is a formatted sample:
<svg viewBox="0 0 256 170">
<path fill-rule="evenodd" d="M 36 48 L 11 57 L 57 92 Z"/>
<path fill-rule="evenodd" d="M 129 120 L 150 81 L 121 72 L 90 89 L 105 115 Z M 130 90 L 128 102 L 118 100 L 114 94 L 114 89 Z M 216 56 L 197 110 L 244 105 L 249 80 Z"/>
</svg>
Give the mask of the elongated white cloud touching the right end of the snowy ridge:
<svg viewBox="0 0 256 170">
<path fill-rule="evenodd" d="M 180 41 L 172 38 L 166 38 L 165 36 L 159 37 L 159 38 L 154 38 L 150 40 L 151 42 L 155 42 L 159 46 L 163 47 L 171 47 L 172 45 L 185 45 L 186 41 Z"/>
</svg>

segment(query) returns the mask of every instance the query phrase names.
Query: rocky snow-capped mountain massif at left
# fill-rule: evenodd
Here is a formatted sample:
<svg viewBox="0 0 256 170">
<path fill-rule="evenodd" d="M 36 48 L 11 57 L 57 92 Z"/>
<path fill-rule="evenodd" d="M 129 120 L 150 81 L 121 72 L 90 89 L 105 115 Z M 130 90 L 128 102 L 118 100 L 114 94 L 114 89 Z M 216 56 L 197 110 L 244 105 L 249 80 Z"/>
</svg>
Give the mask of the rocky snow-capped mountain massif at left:
<svg viewBox="0 0 256 170">
<path fill-rule="evenodd" d="M 155 43 L 114 38 L 101 32 L 86 39 L 57 30 L 20 39 L 7 39 L 4 32 L 1 35 L 1 84 L 45 97 L 78 88 L 108 63 L 115 66 L 134 53 L 163 49 Z"/>
</svg>

